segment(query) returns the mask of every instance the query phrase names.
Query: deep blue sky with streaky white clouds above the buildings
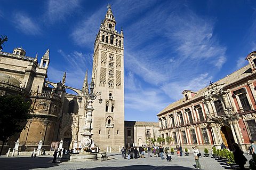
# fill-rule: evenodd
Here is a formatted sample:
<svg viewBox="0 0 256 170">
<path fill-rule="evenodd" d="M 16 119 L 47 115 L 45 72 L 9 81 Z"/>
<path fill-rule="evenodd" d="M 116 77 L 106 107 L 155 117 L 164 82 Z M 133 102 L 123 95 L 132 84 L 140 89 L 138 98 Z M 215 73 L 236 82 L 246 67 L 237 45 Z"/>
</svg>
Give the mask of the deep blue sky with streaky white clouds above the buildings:
<svg viewBox="0 0 256 170">
<path fill-rule="evenodd" d="M 107 4 L 124 31 L 125 120 L 157 122 L 157 113 L 247 64 L 256 50 L 255 1 L 0 1 L 5 52 L 22 46 L 41 58 L 49 80 L 82 88 L 91 75 L 95 35 Z"/>
</svg>

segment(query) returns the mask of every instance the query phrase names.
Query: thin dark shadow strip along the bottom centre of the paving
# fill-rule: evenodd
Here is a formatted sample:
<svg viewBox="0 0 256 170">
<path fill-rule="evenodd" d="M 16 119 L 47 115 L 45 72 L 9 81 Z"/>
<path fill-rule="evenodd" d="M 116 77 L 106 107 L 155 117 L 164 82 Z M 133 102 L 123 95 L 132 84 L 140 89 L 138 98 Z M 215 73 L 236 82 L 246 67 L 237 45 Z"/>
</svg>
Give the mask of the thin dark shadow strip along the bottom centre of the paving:
<svg viewBox="0 0 256 170">
<path fill-rule="evenodd" d="M 76 169 L 76 170 L 85 170 L 86 168 L 80 168 L 80 169 Z M 161 170 L 167 170 L 167 169 L 195 169 L 195 168 L 188 168 L 188 167 L 183 167 L 183 166 L 150 166 L 150 165 L 132 165 L 132 166 L 119 166 L 119 167 L 113 167 L 113 166 L 109 166 L 109 167 L 96 167 L 96 168 L 90 168 L 90 170 L 99 170 L 99 169 L 104 169 L 104 170 L 110 170 L 110 169 L 122 169 L 122 170 L 134 170 L 134 169 L 140 169 L 140 170 L 143 170 L 143 169 L 147 169 L 147 170 L 150 170 L 150 169 L 161 169 Z"/>
</svg>

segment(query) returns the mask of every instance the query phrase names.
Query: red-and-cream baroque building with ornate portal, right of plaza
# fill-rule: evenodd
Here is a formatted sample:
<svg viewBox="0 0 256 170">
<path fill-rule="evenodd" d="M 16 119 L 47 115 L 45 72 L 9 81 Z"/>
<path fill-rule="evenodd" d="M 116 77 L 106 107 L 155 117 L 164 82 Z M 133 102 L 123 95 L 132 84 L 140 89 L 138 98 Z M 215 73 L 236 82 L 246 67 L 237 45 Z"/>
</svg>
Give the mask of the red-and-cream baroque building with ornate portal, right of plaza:
<svg viewBox="0 0 256 170">
<path fill-rule="evenodd" d="M 256 140 L 256 52 L 247 55 L 247 66 L 197 92 L 184 90 L 183 99 L 157 114 L 162 137 L 172 145 L 191 148 L 217 147 L 230 150 L 236 142 L 246 151 Z"/>
</svg>

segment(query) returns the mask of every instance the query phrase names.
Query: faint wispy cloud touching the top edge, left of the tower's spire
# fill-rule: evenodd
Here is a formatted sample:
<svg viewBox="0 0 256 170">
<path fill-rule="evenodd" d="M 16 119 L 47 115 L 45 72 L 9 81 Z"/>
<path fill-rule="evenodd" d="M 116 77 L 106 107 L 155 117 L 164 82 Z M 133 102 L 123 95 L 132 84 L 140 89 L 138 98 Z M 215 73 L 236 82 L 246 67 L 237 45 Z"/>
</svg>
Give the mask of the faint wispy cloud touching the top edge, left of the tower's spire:
<svg viewBox="0 0 256 170">
<path fill-rule="evenodd" d="M 74 14 L 79 8 L 80 0 L 49 0 L 45 13 L 46 21 L 54 23 L 56 21 L 65 21 L 67 17 Z"/>
</svg>

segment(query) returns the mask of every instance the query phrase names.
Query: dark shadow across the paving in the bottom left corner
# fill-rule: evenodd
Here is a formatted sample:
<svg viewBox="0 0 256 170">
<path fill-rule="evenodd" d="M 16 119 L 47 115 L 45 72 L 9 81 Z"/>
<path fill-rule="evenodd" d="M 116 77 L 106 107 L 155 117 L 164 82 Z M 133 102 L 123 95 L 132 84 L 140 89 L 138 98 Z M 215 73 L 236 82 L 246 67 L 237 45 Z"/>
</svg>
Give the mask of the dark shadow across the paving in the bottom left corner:
<svg viewBox="0 0 256 170">
<path fill-rule="evenodd" d="M 33 169 L 33 168 L 48 168 L 58 166 L 60 162 L 58 159 L 56 163 L 52 163 L 53 158 L 51 157 L 9 157 L 0 158 L 0 169 Z"/>
</svg>

